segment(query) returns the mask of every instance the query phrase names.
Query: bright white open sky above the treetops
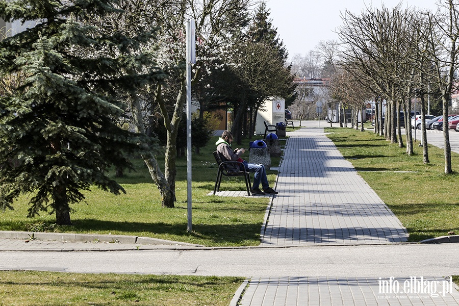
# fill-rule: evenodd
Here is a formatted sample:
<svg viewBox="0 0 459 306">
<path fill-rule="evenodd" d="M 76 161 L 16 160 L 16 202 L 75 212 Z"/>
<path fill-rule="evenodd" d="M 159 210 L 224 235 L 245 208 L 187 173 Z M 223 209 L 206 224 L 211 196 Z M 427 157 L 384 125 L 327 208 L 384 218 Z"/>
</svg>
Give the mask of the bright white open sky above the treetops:
<svg viewBox="0 0 459 306">
<path fill-rule="evenodd" d="M 304 56 L 321 41 L 338 40 L 337 28 L 346 10 L 359 14 L 365 7 L 387 8 L 402 3 L 402 8 L 437 10 L 437 0 L 266 0 L 277 34 L 284 41 L 289 57 Z"/>
</svg>

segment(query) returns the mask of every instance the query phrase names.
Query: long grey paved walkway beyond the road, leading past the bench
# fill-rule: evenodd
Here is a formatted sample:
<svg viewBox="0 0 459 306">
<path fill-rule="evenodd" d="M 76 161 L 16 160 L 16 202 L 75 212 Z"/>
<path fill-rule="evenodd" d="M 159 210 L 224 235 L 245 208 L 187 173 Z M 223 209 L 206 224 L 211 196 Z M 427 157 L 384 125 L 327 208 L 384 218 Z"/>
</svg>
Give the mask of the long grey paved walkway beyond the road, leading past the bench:
<svg viewBox="0 0 459 306">
<path fill-rule="evenodd" d="M 321 128 L 289 133 L 263 245 L 403 242 L 406 229 Z"/>
</svg>

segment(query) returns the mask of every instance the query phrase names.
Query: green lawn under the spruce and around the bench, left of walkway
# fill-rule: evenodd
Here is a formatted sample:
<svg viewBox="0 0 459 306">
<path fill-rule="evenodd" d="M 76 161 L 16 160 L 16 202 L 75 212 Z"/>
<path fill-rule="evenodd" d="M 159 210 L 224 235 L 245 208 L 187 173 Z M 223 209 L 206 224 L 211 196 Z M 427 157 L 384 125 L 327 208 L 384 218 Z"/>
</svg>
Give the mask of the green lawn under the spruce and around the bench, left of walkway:
<svg viewBox="0 0 459 306">
<path fill-rule="evenodd" d="M 126 194 L 113 195 L 93 188 L 86 201 L 72 206 L 71 226 L 56 226 L 55 216 L 42 212 L 36 218 L 26 218 L 30 195 L 14 203 L 14 211 L 0 214 L 0 230 L 33 232 L 66 232 L 154 237 L 205 246 L 253 246 L 260 244 L 260 231 L 268 205 L 268 197 L 218 197 L 213 191 L 217 165 L 212 151 L 214 137 L 192 155 L 192 233 L 187 232 L 187 162 L 177 161 L 176 198 L 174 209 L 161 207 L 160 193 L 142 160 L 134 160 L 136 171 L 126 172 L 118 182 Z M 260 139 L 254 138 L 255 139 Z M 285 145 L 285 142 L 283 143 Z M 248 147 L 249 140 L 234 147 Z M 243 156 L 248 160 L 248 152 Z M 160 165 L 164 157 L 159 158 Z M 272 158 L 276 166 L 280 158 Z M 268 171 L 270 185 L 276 171 Z M 253 177 L 253 176 L 252 176 Z M 241 177 L 223 178 L 220 190 L 245 190 Z"/>
</svg>

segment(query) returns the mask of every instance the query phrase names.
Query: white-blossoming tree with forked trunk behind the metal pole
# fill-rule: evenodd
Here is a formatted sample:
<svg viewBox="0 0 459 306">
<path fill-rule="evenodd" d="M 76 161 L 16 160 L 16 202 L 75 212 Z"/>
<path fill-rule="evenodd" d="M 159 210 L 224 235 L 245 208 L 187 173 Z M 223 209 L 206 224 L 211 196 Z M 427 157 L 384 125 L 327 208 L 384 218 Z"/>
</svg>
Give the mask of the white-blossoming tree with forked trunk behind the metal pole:
<svg viewBox="0 0 459 306">
<path fill-rule="evenodd" d="M 143 95 L 133 93 L 126 100 L 131 106 L 135 129 L 147 134 L 148 118 L 160 116 L 167 133 L 164 173 L 151 155 L 143 157 L 152 180 L 161 194 L 163 207 L 174 207 L 177 156 L 177 135 L 186 101 L 185 27 L 187 18 L 196 23 L 197 62 L 193 82 L 200 80 L 200 72 L 216 69 L 213 66 L 226 52 L 229 37 L 237 31 L 235 25 L 246 22 L 246 9 L 251 0 L 122 0 L 119 6 L 124 13 L 100 20 L 106 28 L 116 33 L 123 28 L 142 33 L 142 28 L 158 28 L 158 37 L 151 45 L 150 54 L 156 64 L 167 72 L 168 78 L 156 84 L 147 84 Z M 222 61 L 222 60 L 221 60 Z M 221 62 L 220 61 L 220 62 Z M 134 68 L 133 68 L 134 69 Z M 156 67 L 151 67 L 152 70 Z M 207 69 L 210 70 L 210 69 Z M 145 106 L 148 104 L 148 106 Z M 153 114 L 152 109 L 157 113 Z"/>
</svg>

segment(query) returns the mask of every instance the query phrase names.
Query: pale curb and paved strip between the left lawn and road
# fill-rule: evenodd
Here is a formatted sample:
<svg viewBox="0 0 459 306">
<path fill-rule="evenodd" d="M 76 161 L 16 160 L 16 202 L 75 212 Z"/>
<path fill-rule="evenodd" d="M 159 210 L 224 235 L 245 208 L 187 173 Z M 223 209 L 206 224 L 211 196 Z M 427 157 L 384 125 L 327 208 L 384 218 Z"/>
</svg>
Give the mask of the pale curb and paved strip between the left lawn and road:
<svg viewBox="0 0 459 306">
<path fill-rule="evenodd" d="M 72 234 L 72 233 L 41 233 L 41 232 L 14 232 L 0 231 L 0 238 L 6 239 L 40 239 L 52 241 L 71 242 L 119 242 L 129 244 L 151 244 L 151 245 L 181 245 L 181 246 L 202 246 L 186 242 L 170 241 L 158 238 L 125 236 L 125 235 L 99 235 L 99 234 Z"/>
</svg>

